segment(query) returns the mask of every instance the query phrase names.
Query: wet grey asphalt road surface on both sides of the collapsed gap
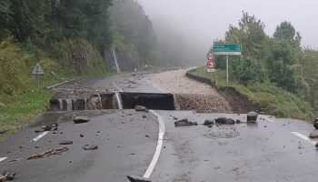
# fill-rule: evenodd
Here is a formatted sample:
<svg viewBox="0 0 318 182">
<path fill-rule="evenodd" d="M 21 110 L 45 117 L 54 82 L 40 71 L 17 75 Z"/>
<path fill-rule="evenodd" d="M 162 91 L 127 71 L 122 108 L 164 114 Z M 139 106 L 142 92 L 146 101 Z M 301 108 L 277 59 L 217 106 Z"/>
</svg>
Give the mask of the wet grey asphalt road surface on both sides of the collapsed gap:
<svg viewBox="0 0 318 182">
<path fill-rule="evenodd" d="M 81 85 L 108 88 L 113 82 L 129 92 L 164 92 L 151 86 L 144 75 L 90 79 Z M 292 133 L 308 136 L 313 131 L 311 124 L 259 116 L 257 125 L 174 127 L 174 116 L 203 124 L 204 119 L 218 116 L 245 121 L 245 115 L 156 112 L 164 120 L 165 134 L 159 160 L 150 177 L 154 182 L 317 181 L 318 152 L 314 141 Z M 92 121 L 75 125 L 72 116 L 79 115 L 89 116 Z M 39 135 L 35 133 L 37 126 L 56 121 L 57 134 L 50 132 L 31 142 Z M 66 146 L 69 150 L 61 155 L 25 160 L 47 148 L 60 147 L 61 140 L 74 143 Z M 34 125 L 0 143 L 0 158 L 7 157 L 0 162 L 0 171 L 11 169 L 17 174 L 15 181 L 24 182 L 122 182 L 127 181 L 126 175 L 144 175 L 157 140 L 158 121 L 152 113 L 134 110 L 45 113 Z M 95 144 L 98 149 L 85 151 L 82 148 L 85 144 Z M 13 159 L 19 160 L 10 162 Z"/>
</svg>

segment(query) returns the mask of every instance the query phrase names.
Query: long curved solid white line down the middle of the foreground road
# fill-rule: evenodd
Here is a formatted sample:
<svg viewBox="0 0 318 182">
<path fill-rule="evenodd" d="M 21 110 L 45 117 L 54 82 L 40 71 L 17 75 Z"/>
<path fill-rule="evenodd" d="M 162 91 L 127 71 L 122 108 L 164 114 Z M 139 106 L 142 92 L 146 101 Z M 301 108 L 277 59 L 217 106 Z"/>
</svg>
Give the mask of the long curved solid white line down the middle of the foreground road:
<svg viewBox="0 0 318 182">
<path fill-rule="evenodd" d="M 164 132 L 165 132 L 164 119 L 158 113 L 156 113 L 154 110 L 149 110 L 149 111 L 151 113 L 153 113 L 154 116 L 156 116 L 157 119 L 158 119 L 158 122 L 159 122 L 159 134 L 158 134 L 157 147 L 155 148 L 155 152 L 154 152 L 154 157 L 153 157 L 152 161 L 150 162 L 149 167 L 144 172 L 144 176 L 143 176 L 144 178 L 149 178 L 151 176 L 151 174 L 153 173 L 153 171 L 154 171 L 154 167 L 155 167 L 155 165 L 158 162 L 161 149 L 163 148 Z"/>
</svg>

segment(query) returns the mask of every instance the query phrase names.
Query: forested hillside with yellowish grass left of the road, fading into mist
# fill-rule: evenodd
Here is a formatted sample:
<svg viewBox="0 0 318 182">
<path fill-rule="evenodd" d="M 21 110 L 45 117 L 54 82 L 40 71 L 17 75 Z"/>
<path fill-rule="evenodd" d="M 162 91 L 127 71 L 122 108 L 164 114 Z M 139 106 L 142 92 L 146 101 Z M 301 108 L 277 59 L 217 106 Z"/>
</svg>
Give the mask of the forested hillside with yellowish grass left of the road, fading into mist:
<svg viewBox="0 0 318 182">
<path fill-rule="evenodd" d="M 37 62 L 44 80 L 109 72 L 113 49 L 131 69 L 158 65 L 152 23 L 135 0 L 3 0 L 0 15 L 2 102 L 32 87 Z"/>
</svg>

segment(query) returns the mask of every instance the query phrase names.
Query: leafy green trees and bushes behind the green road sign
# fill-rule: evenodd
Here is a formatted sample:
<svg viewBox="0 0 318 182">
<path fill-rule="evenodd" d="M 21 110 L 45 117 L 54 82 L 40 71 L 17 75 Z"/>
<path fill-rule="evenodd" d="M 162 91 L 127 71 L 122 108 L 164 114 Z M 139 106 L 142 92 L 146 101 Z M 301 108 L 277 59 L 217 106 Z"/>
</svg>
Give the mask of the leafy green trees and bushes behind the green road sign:
<svg viewBox="0 0 318 182">
<path fill-rule="evenodd" d="M 230 58 L 232 80 L 247 87 L 261 85 L 268 90 L 267 97 L 275 95 L 272 91 L 276 87 L 281 88 L 303 100 L 303 105 L 310 103 L 317 111 L 318 52 L 301 46 L 301 33 L 290 22 L 277 25 L 273 35 L 266 35 L 264 26 L 254 15 L 243 12 L 239 24 L 229 26 L 225 40 L 215 41 L 243 45 L 243 56 Z M 216 61 L 219 68 L 225 68 L 224 56 L 217 56 Z M 313 112 L 308 106 L 302 109 L 303 113 Z"/>
</svg>

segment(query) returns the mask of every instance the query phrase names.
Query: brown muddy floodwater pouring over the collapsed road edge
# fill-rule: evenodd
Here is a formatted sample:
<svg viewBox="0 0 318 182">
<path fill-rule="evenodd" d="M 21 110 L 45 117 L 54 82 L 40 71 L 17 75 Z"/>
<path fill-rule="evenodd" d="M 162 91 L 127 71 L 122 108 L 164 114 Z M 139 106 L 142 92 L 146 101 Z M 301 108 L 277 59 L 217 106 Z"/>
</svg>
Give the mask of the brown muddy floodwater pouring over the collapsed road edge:
<svg viewBox="0 0 318 182">
<path fill-rule="evenodd" d="M 185 69 L 163 72 L 153 76 L 151 81 L 174 94 L 175 108 L 178 110 L 232 112 L 229 103 L 213 87 L 186 77 L 185 72 Z"/>
</svg>

